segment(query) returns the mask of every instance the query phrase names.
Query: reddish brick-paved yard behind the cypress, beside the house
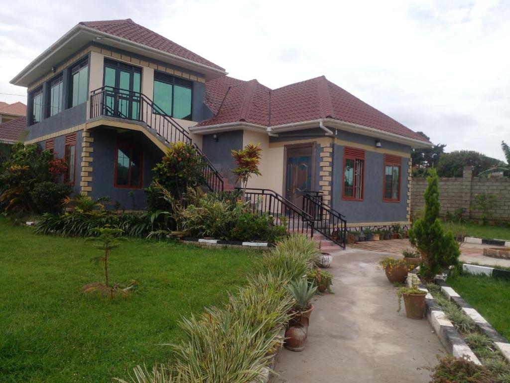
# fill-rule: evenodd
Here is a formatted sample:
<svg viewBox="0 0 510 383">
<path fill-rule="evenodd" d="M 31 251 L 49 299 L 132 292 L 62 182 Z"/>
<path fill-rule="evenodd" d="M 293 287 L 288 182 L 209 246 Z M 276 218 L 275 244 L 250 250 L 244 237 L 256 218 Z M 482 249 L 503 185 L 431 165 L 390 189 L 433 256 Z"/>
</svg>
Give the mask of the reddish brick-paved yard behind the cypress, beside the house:
<svg viewBox="0 0 510 383">
<path fill-rule="evenodd" d="M 353 249 L 377 251 L 391 255 L 401 255 L 402 250 L 411 249 L 409 240 L 389 240 L 389 241 L 368 241 L 359 242 L 355 245 L 349 245 Z M 494 265 L 510 267 L 510 259 L 498 259 L 483 256 L 484 247 L 494 247 L 491 245 L 462 244 L 461 261 L 478 262 L 480 265 Z"/>
</svg>

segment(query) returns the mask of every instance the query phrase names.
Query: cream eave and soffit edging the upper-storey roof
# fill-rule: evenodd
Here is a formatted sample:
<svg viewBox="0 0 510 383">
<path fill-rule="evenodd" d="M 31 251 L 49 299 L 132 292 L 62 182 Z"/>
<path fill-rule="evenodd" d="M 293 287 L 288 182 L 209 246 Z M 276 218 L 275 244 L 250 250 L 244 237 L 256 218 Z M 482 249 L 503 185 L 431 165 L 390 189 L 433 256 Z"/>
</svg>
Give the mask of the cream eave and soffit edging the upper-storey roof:
<svg viewBox="0 0 510 383">
<path fill-rule="evenodd" d="M 82 34 L 84 35 L 83 37 L 88 37 L 89 42 L 96 40 L 97 37 L 103 37 L 107 38 L 108 40 L 113 40 L 114 42 L 116 42 L 116 44 L 112 44 L 111 42 L 109 43 L 109 41 L 101 40 L 101 43 L 104 45 L 118 47 L 119 49 L 123 49 L 130 52 L 133 51 L 133 49 L 135 49 L 136 51 L 140 52 L 141 55 L 143 55 L 144 53 L 145 55 L 150 54 L 152 58 L 159 59 L 160 61 L 168 62 L 176 66 L 185 66 L 186 68 L 190 68 L 199 73 L 203 73 L 204 75 L 206 75 L 206 80 L 212 80 L 214 78 L 227 75 L 227 73 L 224 70 L 213 68 L 205 64 L 200 64 L 180 56 L 172 55 L 170 53 L 166 53 L 131 40 L 127 40 L 109 33 L 101 32 L 96 29 L 78 24 L 74 26 L 71 30 L 69 30 L 64 36 L 59 38 L 55 43 L 50 45 L 48 49 L 41 53 L 23 70 L 21 70 L 20 73 L 18 73 L 10 81 L 10 83 L 13 85 L 28 87 L 32 82 L 36 81 L 38 77 L 42 76 L 41 74 L 40 76 L 35 76 L 36 77 L 35 79 L 29 80 L 28 77 L 30 74 L 34 73 L 34 71 L 37 70 L 37 68 L 39 68 L 43 63 L 49 60 L 56 52 L 65 49 L 66 43 L 69 43 L 72 39 L 77 38 Z M 71 55 L 72 53 L 69 53 L 69 55 Z"/>
</svg>

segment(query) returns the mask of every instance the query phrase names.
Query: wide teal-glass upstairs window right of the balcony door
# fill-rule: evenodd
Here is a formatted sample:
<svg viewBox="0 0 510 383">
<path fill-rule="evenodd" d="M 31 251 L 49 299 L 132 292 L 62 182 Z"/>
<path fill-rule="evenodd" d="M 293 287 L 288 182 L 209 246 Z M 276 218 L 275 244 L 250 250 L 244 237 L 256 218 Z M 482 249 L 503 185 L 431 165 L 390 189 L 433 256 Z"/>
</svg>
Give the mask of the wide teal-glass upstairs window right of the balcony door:
<svg viewBox="0 0 510 383">
<path fill-rule="evenodd" d="M 192 87 L 191 81 L 156 72 L 154 103 L 169 116 L 191 120 Z M 155 110 L 155 113 L 158 112 L 159 110 Z"/>
</svg>

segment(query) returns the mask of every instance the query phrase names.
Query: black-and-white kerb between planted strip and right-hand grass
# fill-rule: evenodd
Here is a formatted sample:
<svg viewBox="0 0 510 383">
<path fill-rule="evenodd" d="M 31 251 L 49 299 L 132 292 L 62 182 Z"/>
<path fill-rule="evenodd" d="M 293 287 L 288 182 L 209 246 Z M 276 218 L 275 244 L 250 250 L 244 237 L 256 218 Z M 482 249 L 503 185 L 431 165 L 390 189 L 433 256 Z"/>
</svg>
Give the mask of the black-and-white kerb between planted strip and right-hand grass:
<svg viewBox="0 0 510 383">
<path fill-rule="evenodd" d="M 441 286 L 441 291 L 455 303 L 466 315 L 468 315 L 476 327 L 486 334 L 493 342 L 503 357 L 510 363 L 510 342 L 508 342 L 492 325 L 483 318 L 480 313 L 471 307 L 455 290 L 453 290 L 444 279 L 436 278 L 436 283 Z"/>
</svg>

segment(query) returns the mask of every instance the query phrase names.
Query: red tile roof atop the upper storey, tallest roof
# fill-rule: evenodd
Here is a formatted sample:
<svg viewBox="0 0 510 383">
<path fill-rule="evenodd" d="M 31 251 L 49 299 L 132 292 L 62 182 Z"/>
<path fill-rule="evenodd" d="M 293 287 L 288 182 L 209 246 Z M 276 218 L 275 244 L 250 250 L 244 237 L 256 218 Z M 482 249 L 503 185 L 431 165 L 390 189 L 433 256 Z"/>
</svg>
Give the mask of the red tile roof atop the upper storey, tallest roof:
<svg viewBox="0 0 510 383">
<path fill-rule="evenodd" d="M 185 47 L 168 40 L 166 37 L 163 37 L 150 29 L 142 27 L 130 18 L 125 20 L 81 21 L 80 24 L 85 27 L 93 28 L 101 32 L 143 44 L 202 65 L 207 65 L 212 68 L 225 71 L 225 69 L 221 66 L 206 60 L 196 53 L 187 50 Z"/>
</svg>

